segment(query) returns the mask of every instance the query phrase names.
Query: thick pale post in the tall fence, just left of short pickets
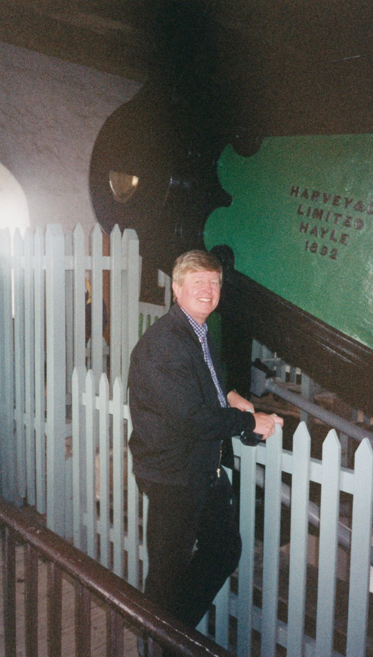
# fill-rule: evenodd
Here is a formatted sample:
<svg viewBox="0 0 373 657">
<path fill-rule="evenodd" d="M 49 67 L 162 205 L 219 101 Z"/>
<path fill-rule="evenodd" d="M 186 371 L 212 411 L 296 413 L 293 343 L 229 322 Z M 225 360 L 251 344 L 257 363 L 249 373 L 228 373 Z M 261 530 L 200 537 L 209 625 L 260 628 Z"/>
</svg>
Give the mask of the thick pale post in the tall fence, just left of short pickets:
<svg viewBox="0 0 373 657">
<path fill-rule="evenodd" d="M 47 526 L 64 534 L 66 340 L 64 237 L 49 224 L 45 235 L 47 301 Z"/>
</svg>

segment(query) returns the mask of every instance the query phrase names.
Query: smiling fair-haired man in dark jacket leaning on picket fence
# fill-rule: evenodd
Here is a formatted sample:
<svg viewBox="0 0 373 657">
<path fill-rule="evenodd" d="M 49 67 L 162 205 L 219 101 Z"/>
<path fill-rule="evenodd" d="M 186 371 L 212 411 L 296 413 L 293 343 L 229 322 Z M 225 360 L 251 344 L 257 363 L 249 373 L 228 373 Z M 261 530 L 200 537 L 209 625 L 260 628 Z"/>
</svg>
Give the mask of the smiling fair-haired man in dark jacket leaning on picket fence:
<svg viewBox="0 0 373 657">
<path fill-rule="evenodd" d="M 134 474 L 149 497 L 145 595 L 197 625 L 237 567 L 241 539 L 232 487 L 232 436 L 255 445 L 283 424 L 226 395 L 205 321 L 218 305 L 222 267 L 203 251 L 180 256 L 176 303 L 132 352 L 129 386 Z M 255 433 L 253 433 L 255 432 Z"/>
</svg>

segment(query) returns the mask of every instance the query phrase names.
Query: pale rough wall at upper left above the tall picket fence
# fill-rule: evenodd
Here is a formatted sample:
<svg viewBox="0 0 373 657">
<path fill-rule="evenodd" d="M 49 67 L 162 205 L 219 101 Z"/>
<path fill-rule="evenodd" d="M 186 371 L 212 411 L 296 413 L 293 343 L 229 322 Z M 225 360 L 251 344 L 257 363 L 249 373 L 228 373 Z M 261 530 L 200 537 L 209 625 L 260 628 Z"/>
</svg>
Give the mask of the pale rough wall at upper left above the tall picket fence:
<svg viewBox="0 0 373 657">
<path fill-rule="evenodd" d="M 0 163 L 22 186 L 31 227 L 95 223 L 88 173 L 108 116 L 140 85 L 0 42 Z M 1 212 L 1 208 L 0 208 Z"/>
</svg>

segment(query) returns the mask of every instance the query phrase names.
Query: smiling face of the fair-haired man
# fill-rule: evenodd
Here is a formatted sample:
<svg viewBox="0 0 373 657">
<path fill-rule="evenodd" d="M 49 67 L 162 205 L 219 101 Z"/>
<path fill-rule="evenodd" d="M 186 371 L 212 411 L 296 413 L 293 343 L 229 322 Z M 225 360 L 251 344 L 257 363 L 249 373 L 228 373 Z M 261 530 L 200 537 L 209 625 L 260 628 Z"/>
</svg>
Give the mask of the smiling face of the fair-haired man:
<svg viewBox="0 0 373 657">
<path fill-rule="evenodd" d="M 216 308 L 220 298 L 217 271 L 188 271 L 182 285 L 172 283 L 176 301 L 199 324 Z"/>
</svg>

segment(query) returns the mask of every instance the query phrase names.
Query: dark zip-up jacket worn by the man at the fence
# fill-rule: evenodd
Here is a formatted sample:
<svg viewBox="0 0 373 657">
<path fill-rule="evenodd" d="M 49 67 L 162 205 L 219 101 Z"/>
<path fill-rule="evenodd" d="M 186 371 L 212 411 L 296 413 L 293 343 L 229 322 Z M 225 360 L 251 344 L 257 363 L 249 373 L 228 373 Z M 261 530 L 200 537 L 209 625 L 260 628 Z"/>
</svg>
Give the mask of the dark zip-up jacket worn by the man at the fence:
<svg viewBox="0 0 373 657">
<path fill-rule="evenodd" d="M 208 341 L 226 394 L 209 334 Z M 205 478 L 216 471 L 222 440 L 232 455 L 232 436 L 255 425 L 251 413 L 220 407 L 201 344 L 177 304 L 137 342 L 128 382 L 133 469 L 143 479 L 187 485 Z"/>
</svg>

